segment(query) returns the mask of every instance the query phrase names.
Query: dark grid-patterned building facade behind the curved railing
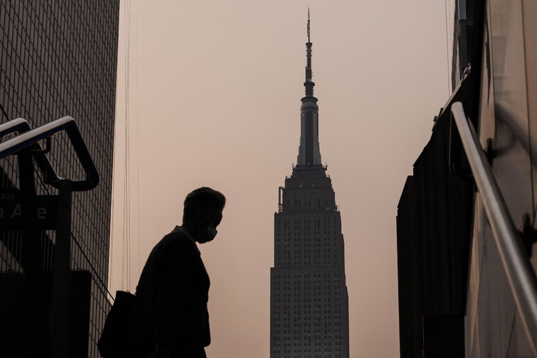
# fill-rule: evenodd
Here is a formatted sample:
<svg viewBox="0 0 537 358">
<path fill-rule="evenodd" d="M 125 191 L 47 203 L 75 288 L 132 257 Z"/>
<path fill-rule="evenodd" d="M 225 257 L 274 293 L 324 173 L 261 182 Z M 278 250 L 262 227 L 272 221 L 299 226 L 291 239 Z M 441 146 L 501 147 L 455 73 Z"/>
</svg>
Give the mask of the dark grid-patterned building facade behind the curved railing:
<svg viewBox="0 0 537 358">
<path fill-rule="evenodd" d="M 73 117 L 100 173 L 95 189 L 74 193 L 71 215 L 71 269 L 91 275 L 89 327 L 83 323 L 81 328 L 87 331 L 87 357 L 100 357 L 96 341 L 110 309 L 107 284 L 118 26 L 119 0 L 0 1 L 0 123 L 22 117 L 36 128 Z M 53 137 L 47 156 L 62 178 L 83 178 L 64 133 Z M 1 191 L 16 191 L 16 156 L 1 159 L 0 167 Z M 37 194 L 56 194 L 42 178 L 36 181 Z M 40 250 L 44 283 L 49 286 L 46 275 L 51 271 L 55 239 L 55 230 L 41 230 L 31 243 Z M 25 318 L 17 292 L 24 291 L 28 264 L 24 247 L 20 230 L 0 227 L 2 357 L 21 357 L 21 344 L 36 346 L 35 357 L 46 356 L 37 355 L 40 349 L 46 350 L 46 331 L 41 332 L 43 337 L 20 341 Z M 71 298 L 71 302 L 76 305 L 85 299 Z"/>
</svg>

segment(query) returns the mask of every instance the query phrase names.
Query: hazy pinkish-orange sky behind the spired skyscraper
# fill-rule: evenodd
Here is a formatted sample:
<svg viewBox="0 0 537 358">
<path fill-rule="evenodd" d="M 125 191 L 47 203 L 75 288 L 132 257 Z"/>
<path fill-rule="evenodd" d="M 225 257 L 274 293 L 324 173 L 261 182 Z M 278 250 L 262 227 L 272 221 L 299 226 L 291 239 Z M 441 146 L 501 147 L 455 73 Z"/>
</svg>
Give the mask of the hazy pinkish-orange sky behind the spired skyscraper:
<svg viewBox="0 0 537 358">
<path fill-rule="evenodd" d="M 269 357 L 273 214 L 298 155 L 309 6 L 321 155 L 346 245 L 351 357 L 398 357 L 395 216 L 449 96 L 445 2 L 121 6 L 111 291 L 135 290 L 149 250 L 180 224 L 185 196 L 213 187 L 228 205 L 216 239 L 200 246 L 212 281 L 207 355 Z"/>
</svg>

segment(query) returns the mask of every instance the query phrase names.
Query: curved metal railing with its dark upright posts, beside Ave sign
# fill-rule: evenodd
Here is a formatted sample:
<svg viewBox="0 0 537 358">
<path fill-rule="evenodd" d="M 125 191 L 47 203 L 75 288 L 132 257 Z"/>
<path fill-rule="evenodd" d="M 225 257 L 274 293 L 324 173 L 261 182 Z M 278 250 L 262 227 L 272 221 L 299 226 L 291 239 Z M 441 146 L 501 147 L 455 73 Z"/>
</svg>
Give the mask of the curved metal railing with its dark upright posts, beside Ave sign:
<svg viewBox="0 0 537 358">
<path fill-rule="evenodd" d="M 59 178 L 46 157 L 46 152 L 51 148 L 51 137 L 62 131 L 67 133 L 85 171 L 83 180 Z M 24 175 L 22 173 L 20 175 L 21 187 L 24 186 L 21 191 L 26 197 L 23 211 L 31 212 L 28 209 L 32 206 L 32 198 L 35 199 L 31 157 L 35 158 L 38 167 L 44 172 L 45 182 L 58 189 L 58 221 L 53 255 L 49 338 L 53 357 L 68 358 L 72 194 L 73 191 L 87 191 L 96 187 L 99 184 L 99 171 L 95 167 L 76 122 L 71 117 L 56 119 L 35 129 L 30 129 L 28 122 L 24 119 L 15 119 L 0 125 L 0 138 L 15 132 L 19 135 L 0 143 L 0 158 L 7 155 L 19 155 L 19 167 L 21 167 L 19 169 L 24 171 Z M 39 144 L 42 140 L 46 140 L 45 149 Z M 35 239 L 35 230 L 37 230 L 33 222 L 35 215 L 24 214 L 24 216 L 28 225 L 22 228 L 23 243 L 30 243 L 32 239 Z"/>
</svg>

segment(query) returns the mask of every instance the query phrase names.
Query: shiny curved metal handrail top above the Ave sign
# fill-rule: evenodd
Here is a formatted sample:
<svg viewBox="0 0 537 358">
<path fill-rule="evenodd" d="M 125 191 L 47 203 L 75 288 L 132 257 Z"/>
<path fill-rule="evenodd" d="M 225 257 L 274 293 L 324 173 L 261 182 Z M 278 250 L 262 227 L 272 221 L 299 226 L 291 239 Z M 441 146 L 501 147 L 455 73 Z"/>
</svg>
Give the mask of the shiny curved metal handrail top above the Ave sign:
<svg viewBox="0 0 537 358">
<path fill-rule="evenodd" d="M 24 119 L 22 120 L 24 121 Z M 16 126 L 19 126 L 19 128 L 24 128 L 24 123 L 22 123 L 18 119 L 15 121 L 16 122 L 13 123 L 12 126 L 4 126 L 3 128 L 0 127 L 0 130 L 12 130 Z M 26 122 L 26 124 L 28 123 Z M 0 158 L 5 157 L 6 155 L 15 154 L 18 151 L 22 151 L 29 146 L 37 144 L 37 142 L 39 142 L 40 140 L 49 138 L 52 135 L 61 132 L 62 130 L 65 130 L 65 132 L 67 133 L 67 137 L 69 137 L 69 140 L 73 145 L 76 155 L 78 155 L 78 160 L 80 160 L 80 164 L 82 164 L 82 167 L 86 173 L 86 178 L 84 180 L 71 181 L 71 187 L 73 191 L 86 191 L 93 189 L 99 184 L 99 171 L 95 167 L 95 163 L 92 160 L 92 156 L 89 154 L 84 139 L 82 135 L 80 135 L 80 130 L 78 130 L 78 126 L 76 126 L 76 122 L 72 117 L 63 117 L 60 119 L 56 119 L 56 121 L 46 123 L 44 126 L 40 126 L 39 128 L 27 130 L 26 132 L 17 135 L 17 137 L 8 139 L 6 142 L 0 143 Z M 12 130 L 11 133 L 13 131 L 16 130 Z M 44 156 L 44 154 L 37 154 L 37 157 L 41 157 L 42 155 L 42 157 L 46 159 L 46 156 Z M 48 162 L 48 159 L 46 159 L 46 162 Z M 43 164 L 44 167 L 46 167 L 46 162 L 42 161 L 42 163 L 38 162 L 38 164 Z M 48 164 L 50 165 L 50 162 Z M 53 171 L 52 167 L 51 170 Z M 45 172 L 48 173 L 48 171 Z M 58 176 L 56 176 L 56 179 L 59 179 Z M 51 185 L 54 185 L 54 182 L 51 182 L 51 178 L 46 178 L 46 180 Z"/>
</svg>

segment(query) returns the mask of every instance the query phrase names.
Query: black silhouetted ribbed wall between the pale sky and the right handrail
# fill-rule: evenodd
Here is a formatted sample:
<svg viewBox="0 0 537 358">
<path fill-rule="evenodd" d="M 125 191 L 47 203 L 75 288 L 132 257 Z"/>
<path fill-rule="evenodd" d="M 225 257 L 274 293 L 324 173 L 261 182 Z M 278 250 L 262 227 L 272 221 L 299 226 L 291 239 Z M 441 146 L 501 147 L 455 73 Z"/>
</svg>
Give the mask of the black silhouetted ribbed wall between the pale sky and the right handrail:
<svg viewBox="0 0 537 358">
<path fill-rule="evenodd" d="M 414 163 L 414 175 L 407 179 L 398 205 L 401 357 L 422 357 L 423 347 L 428 343 L 424 325 L 449 324 L 445 316 L 455 320 L 458 317 L 460 321 L 458 334 L 451 331 L 452 338 L 446 339 L 445 350 L 464 350 L 473 185 L 450 173 L 448 120 L 436 123 L 429 143 Z M 441 334 L 441 330 L 436 332 Z M 429 337 L 434 341 L 438 335 Z"/>
</svg>

